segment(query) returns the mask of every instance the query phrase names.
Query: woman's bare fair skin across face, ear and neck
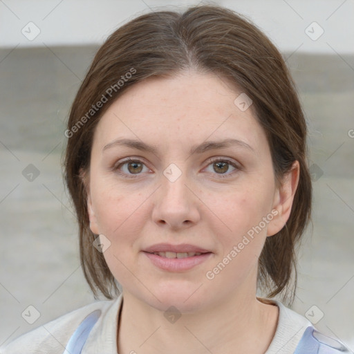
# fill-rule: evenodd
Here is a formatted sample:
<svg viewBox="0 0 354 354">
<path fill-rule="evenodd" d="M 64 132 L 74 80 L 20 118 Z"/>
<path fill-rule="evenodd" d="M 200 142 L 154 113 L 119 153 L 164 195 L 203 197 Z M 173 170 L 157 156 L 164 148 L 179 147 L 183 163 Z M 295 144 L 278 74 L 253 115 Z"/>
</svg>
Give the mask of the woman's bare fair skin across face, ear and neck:
<svg viewBox="0 0 354 354">
<path fill-rule="evenodd" d="M 150 78 L 124 92 L 97 124 L 84 182 L 91 231 L 111 242 L 104 258 L 123 289 L 120 354 L 261 354 L 272 341 L 279 311 L 256 297 L 257 262 L 266 237 L 288 220 L 299 163 L 277 189 L 269 145 L 252 106 L 241 111 L 234 104 L 241 92 L 195 71 Z M 157 151 L 102 151 L 118 138 L 140 140 Z M 190 153 L 205 140 L 225 138 L 242 140 L 253 151 L 230 146 Z M 129 157 L 142 165 L 120 165 Z M 239 168 L 215 166 L 209 158 L 227 158 Z M 163 174 L 171 163 L 181 173 L 174 182 Z M 272 210 L 277 215 L 261 232 L 207 279 L 206 272 Z M 162 242 L 191 243 L 212 256 L 184 272 L 160 270 L 142 250 Z M 170 306 L 181 314 L 174 323 L 164 316 Z"/>
</svg>

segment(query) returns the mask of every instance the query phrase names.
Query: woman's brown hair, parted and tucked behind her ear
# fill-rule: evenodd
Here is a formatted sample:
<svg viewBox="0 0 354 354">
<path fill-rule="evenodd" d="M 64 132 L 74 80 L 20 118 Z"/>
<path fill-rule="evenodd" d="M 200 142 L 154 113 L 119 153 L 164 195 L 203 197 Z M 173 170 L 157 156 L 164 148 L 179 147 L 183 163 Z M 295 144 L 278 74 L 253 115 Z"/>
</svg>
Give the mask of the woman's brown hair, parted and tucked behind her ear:
<svg viewBox="0 0 354 354">
<path fill-rule="evenodd" d="M 290 217 L 280 232 L 266 238 L 258 273 L 258 285 L 268 291 L 268 297 L 283 290 L 287 295 L 292 274 L 296 289 L 295 245 L 310 221 L 312 187 L 306 121 L 295 84 L 281 54 L 261 30 L 232 10 L 203 5 L 182 14 L 150 12 L 115 30 L 97 51 L 71 107 L 64 177 L 79 223 L 84 276 L 95 298 L 97 290 L 108 299 L 114 297 L 112 288 L 119 294 L 102 252 L 93 247 L 97 235 L 89 228 L 80 174 L 89 171 L 95 127 L 129 86 L 147 77 L 173 77 L 189 68 L 225 77 L 252 99 L 252 111 L 270 146 L 277 187 L 292 163 L 299 161 L 299 184 Z M 294 295 L 295 290 L 292 299 Z"/>
</svg>

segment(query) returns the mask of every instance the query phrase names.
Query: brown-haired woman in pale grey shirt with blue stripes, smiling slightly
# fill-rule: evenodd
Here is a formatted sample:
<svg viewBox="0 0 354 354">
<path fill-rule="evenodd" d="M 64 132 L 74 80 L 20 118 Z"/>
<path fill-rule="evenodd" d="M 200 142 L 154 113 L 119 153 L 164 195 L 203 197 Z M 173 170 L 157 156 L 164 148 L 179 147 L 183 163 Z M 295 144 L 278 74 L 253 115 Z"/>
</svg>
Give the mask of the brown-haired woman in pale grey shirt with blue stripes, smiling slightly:
<svg viewBox="0 0 354 354">
<path fill-rule="evenodd" d="M 294 297 L 312 188 L 295 86 L 248 20 L 196 6 L 125 24 L 65 135 L 82 268 L 109 300 L 1 353 L 349 353 L 270 299 Z"/>
</svg>

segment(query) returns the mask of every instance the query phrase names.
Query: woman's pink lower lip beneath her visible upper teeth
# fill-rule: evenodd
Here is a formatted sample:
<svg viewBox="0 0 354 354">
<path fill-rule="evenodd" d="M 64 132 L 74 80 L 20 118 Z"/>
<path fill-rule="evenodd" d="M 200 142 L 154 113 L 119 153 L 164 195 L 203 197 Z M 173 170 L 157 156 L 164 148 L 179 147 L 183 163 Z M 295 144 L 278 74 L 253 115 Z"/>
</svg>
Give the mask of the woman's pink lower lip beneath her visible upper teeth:
<svg viewBox="0 0 354 354">
<path fill-rule="evenodd" d="M 163 270 L 169 270 L 169 272 L 180 272 L 183 270 L 189 270 L 198 264 L 203 263 L 209 257 L 212 256 L 212 252 L 203 253 L 199 256 L 185 257 L 185 258 L 165 258 L 160 257 L 158 254 L 143 252 L 147 255 L 150 261 L 156 265 L 156 267 Z"/>
</svg>

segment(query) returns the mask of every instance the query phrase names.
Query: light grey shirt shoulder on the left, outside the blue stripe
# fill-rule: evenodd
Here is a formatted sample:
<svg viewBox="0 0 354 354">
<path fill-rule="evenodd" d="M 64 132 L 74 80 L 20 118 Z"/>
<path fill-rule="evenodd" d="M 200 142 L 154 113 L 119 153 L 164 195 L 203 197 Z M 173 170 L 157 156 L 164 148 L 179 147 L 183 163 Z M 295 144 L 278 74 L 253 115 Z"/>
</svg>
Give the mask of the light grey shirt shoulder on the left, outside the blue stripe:
<svg viewBox="0 0 354 354">
<path fill-rule="evenodd" d="M 116 300 L 96 301 L 43 324 L 0 347 L 0 354 L 63 353 L 66 343 L 82 320 L 95 310 L 106 313 Z"/>
</svg>

